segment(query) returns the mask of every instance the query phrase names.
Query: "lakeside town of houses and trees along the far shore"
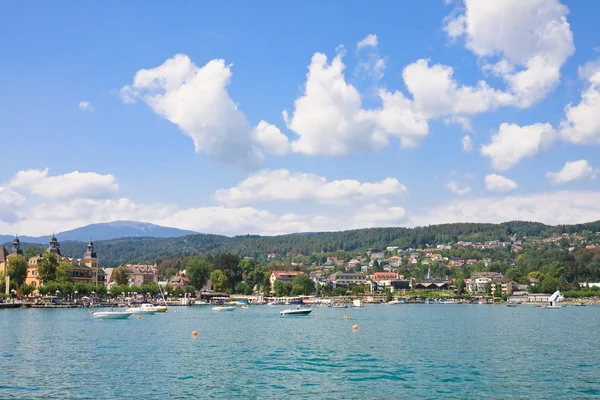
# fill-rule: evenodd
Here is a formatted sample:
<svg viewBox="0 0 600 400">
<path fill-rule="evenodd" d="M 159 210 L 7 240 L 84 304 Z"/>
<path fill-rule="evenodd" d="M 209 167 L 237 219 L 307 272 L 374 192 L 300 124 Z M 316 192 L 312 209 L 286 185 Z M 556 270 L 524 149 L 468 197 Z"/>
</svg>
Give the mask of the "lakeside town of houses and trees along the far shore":
<svg viewBox="0 0 600 400">
<path fill-rule="evenodd" d="M 18 237 L 9 248 L 0 247 L 7 300 L 50 296 L 70 302 L 132 293 L 146 299 L 161 287 L 175 300 L 202 301 L 342 296 L 370 302 L 439 298 L 527 303 L 544 302 L 558 289 L 588 301 L 600 295 L 600 235 L 592 232 L 308 256 L 268 253 L 262 263 L 225 254 L 116 268 L 101 267 L 92 240 L 81 258 L 63 254 L 55 235 L 36 254 L 24 251 Z M 583 268 L 578 265 L 585 262 Z M 569 281 L 569 268 L 575 268 L 579 279 Z"/>
</svg>

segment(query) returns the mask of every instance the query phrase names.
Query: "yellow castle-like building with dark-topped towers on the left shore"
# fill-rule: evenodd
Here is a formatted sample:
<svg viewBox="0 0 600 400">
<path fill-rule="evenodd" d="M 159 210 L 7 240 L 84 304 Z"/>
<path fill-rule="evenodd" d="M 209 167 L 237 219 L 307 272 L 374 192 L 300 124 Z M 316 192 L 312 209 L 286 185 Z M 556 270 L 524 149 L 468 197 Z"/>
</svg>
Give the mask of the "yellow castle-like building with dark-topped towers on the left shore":
<svg viewBox="0 0 600 400">
<path fill-rule="evenodd" d="M 20 243 L 18 243 L 18 238 L 15 238 L 13 241 L 13 251 L 15 254 L 22 254 L 20 249 Z M 16 242 L 16 243 L 15 243 Z M 18 253 L 21 251 L 21 253 Z M 60 251 L 60 243 L 58 239 L 53 234 L 50 242 L 48 243 L 48 248 L 44 253 L 53 253 L 56 255 L 58 262 L 66 262 L 71 265 L 72 268 L 72 278 L 74 282 L 82 282 L 82 283 L 99 283 L 98 281 L 98 256 L 94 251 L 94 242 L 91 240 L 87 245 L 87 250 L 83 255 L 83 258 L 73 258 L 65 256 Z M 43 257 L 43 254 L 30 257 L 28 260 L 27 267 L 27 278 L 25 279 L 25 283 L 29 285 L 33 285 L 35 287 L 41 286 L 41 282 L 38 274 L 38 262 Z"/>
</svg>

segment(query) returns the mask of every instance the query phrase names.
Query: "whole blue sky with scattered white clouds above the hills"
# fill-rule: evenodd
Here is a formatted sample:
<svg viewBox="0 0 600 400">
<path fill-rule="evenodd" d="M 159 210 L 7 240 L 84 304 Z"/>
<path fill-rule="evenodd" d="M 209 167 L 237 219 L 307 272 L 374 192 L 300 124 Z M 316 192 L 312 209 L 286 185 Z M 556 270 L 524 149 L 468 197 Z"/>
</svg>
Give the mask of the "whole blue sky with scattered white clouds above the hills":
<svg viewBox="0 0 600 400">
<path fill-rule="evenodd" d="M 0 2 L 0 233 L 599 220 L 599 15 Z"/>
</svg>

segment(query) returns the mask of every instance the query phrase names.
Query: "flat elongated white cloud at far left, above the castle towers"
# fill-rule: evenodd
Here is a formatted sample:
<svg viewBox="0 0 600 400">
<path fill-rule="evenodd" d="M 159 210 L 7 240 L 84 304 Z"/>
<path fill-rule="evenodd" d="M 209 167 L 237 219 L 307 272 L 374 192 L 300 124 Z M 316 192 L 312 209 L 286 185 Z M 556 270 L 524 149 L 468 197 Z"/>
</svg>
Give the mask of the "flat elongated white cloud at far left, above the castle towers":
<svg viewBox="0 0 600 400">
<path fill-rule="evenodd" d="M 112 175 L 74 171 L 48 176 L 48 169 L 19 171 L 10 181 L 13 188 L 27 189 L 45 198 L 98 198 L 117 192 L 119 186 Z"/>
</svg>

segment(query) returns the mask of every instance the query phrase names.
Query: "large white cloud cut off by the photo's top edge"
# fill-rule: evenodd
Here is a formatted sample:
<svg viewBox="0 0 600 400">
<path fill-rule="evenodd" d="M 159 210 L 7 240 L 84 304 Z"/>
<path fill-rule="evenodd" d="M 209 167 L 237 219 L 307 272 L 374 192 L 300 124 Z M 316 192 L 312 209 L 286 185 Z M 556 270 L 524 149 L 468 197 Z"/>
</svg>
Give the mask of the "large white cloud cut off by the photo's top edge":
<svg viewBox="0 0 600 400">
<path fill-rule="evenodd" d="M 560 81 L 560 69 L 574 53 L 569 10 L 557 0 L 464 0 L 446 20 L 452 38 L 484 58 L 484 70 L 502 77 L 517 105 L 528 107 Z"/>
</svg>

